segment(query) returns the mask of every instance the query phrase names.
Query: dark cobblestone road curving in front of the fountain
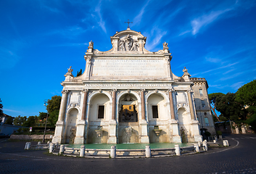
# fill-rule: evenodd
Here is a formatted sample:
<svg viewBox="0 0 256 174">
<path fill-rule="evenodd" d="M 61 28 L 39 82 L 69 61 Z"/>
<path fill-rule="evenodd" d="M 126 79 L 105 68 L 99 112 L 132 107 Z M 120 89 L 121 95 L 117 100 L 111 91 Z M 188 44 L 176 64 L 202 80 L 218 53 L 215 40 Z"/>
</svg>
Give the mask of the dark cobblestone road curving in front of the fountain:
<svg viewBox="0 0 256 174">
<path fill-rule="evenodd" d="M 181 157 L 85 159 L 24 150 L 0 139 L 0 173 L 256 173 L 256 135 L 227 135 L 231 146 Z"/>
</svg>

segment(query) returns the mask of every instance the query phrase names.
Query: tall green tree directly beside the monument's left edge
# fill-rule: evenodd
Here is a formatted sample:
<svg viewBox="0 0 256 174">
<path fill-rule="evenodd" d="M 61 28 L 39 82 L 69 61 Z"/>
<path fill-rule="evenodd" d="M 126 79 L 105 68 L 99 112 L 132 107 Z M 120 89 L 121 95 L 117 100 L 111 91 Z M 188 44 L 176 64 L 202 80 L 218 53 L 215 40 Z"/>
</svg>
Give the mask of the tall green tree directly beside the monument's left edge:
<svg viewBox="0 0 256 174">
<path fill-rule="evenodd" d="M 59 117 L 59 107 L 62 101 L 61 96 L 52 96 L 48 99 L 46 109 L 49 113 L 49 123 L 50 125 L 55 125 Z"/>
</svg>

